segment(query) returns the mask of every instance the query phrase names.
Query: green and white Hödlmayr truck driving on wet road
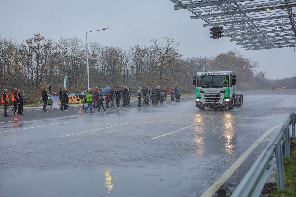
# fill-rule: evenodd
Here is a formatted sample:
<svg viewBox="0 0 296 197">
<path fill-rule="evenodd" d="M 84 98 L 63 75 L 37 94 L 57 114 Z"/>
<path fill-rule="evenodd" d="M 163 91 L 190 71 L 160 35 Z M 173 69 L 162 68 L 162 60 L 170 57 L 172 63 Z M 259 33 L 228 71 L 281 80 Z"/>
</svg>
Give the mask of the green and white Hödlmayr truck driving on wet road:
<svg viewBox="0 0 296 197">
<path fill-rule="evenodd" d="M 243 95 L 235 94 L 233 71 L 205 71 L 193 76 L 196 86 L 196 107 L 207 108 L 243 107 Z"/>
</svg>

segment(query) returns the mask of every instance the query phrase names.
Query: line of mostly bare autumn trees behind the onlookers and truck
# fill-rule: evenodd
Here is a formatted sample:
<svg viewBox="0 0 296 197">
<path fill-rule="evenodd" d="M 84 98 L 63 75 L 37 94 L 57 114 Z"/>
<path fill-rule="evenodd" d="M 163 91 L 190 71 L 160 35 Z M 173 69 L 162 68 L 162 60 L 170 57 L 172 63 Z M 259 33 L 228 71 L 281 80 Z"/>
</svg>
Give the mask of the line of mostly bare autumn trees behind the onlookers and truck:
<svg viewBox="0 0 296 197">
<path fill-rule="evenodd" d="M 1 34 L 0 34 L 1 36 Z M 160 42 L 150 39 L 149 46 L 136 45 L 130 50 L 89 44 L 90 86 L 104 88 L 130 85 L 136 94 L 139 86 L 178 87 L 193 93 L 193 75 L 206 70 L 231 70 L 237 77 L 237 89 L 248 90 L 256 85 L 267 85 L 263 75 L 256 74 L 258 63 L 245 58 L 237 51 L 227 51 L 215 57 L 183 58 L 178 50 L 180 43 L 165 37 Z M 259 72 L 260 73 L 260 72 Z M 37 102 L 42 90 L 49 85 L 52 91 L 64 87 L 70 93 L 87 88 L 86 44 L 71 36 L 57 42 L 40 34 L 17 43 L 12 38 L 0 37 L 0 89 L 23 90 L 26 104 Z M 258 85 L 260 84 L 260 85 Z"/>
</svg>

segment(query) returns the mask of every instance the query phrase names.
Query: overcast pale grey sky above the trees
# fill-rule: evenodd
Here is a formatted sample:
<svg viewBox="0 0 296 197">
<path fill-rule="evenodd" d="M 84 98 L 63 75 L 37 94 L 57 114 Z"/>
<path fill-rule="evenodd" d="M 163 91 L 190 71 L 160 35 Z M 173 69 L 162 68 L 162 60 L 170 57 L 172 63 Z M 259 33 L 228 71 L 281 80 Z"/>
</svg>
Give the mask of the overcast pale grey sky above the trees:
<svg viewBox="0 0 296 197">
<path fill-rule="evenodd" d="M 268 79 L 296 75 L 294 48 L 245 51 L 227 37 L 214 40 L 203 20 L 191 20 L 189 11 L 174 10 L 174 5 L 170 0 L 1 0 L 0 32 L 18 43 L 40 33 L 54 41 L 75 36 L 86 44 L 86 31 L 109 28 L 88 33 L 88 41 L 124 50 L 168 36 L 180 42 L 185 58 L 237 50 L 258 62 L 257 71 L 266 71 Z"/>
</svg>

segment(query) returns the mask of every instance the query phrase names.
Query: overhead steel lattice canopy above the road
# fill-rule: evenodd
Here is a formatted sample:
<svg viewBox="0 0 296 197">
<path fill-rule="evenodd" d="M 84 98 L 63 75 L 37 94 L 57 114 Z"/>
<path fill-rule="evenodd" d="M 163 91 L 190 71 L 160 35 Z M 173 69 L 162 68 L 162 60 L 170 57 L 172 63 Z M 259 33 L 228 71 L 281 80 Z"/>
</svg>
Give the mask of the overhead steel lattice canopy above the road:
<svg viewBox="0 0 296 197">
<path fill-rule="evenodd" d="M 231 37 L 246 50 L 296 46 L 294 17 L 296 0 L 170 0 L 175 10 L 187 9 L 202 19 L 204 27 L 223 27 L 224 37 Z M 224 38 L 223 37 L 223 38 Z"/>
</svg>

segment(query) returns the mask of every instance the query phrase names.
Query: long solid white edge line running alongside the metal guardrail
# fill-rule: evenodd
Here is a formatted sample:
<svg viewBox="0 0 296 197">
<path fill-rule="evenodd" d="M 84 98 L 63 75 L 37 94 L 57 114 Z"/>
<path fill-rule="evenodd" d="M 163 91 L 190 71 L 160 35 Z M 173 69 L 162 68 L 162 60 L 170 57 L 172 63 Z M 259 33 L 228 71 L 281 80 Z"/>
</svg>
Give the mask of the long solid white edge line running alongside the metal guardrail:
<svg viewBox="0 0 296 197">
<path fill-rule="evenodd" d="M 270 134 L 271 131 L 275 130 L 276 128 L 282 126 L 281 125 L 276 125 L 273 128 L 269 129 L 266 131 L 262 136 L 260 136 L 256 142 L 254 142 L 246 152 L 243 153 L 240 158 L 237 159 L 230 167 L 227 169 L 221 177 L 219 177 L 213 185 L 211 185 L 200 197 L 207 197 L 207 196 L 213 196 L 216 191 L 225 183 L 225 181 L 236 171 L 238 167 L 245 161 L 245 159 L 253 152 L 253 150 L 262 142 L 262 140 Z"/>
</svg>

